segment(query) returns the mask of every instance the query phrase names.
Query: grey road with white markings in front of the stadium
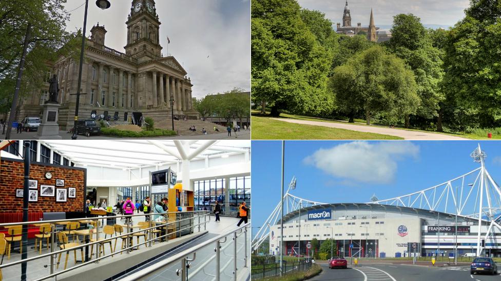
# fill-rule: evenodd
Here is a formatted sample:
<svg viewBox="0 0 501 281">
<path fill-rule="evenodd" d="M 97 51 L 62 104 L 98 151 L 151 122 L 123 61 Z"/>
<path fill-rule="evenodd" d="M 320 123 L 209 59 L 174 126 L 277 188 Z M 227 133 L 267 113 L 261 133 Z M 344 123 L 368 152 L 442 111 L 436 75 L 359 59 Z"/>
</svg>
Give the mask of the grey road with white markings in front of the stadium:
<svg viewBox="0 0 501 281">
<path fill-rule="evenodd" d="M 370 264 L 349 266 L 348 269 L 329 269 L 321 264 L 322 272 L 310 280 L 351 280 L 351 281 L 490 281 L 501 280 L 501 275 L 470 275 L 470 267 L 425 267 L 398 264 Z"/>
</svg>

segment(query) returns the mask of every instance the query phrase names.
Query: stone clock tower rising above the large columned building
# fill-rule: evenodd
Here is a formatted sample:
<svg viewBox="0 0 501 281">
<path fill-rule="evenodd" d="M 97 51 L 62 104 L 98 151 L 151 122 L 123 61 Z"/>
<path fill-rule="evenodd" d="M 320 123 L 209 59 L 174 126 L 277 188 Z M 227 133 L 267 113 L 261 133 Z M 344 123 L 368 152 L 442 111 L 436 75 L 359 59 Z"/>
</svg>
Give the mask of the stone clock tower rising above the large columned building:
<svg viewBox="0 0 501 281">
<path fill-rule="evenodd" d="M 127 46 L 125 53 L 138 62 L 162 56 L 160 46 L 160 21 L 155 0 L 133 0 L 127 18 Z"/>
</svg>

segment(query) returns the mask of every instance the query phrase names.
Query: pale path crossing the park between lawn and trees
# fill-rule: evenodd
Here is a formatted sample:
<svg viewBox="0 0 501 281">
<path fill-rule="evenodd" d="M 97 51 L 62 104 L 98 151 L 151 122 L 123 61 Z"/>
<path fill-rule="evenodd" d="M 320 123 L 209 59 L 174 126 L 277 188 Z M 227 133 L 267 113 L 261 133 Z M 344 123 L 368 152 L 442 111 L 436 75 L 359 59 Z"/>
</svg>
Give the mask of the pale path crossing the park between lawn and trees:
<svg viewBox="0 0 501 281">
<path fill-rule="evenodd" d="M 380 126 L 362 126 L 349 123 L 344 124 L 344 123 L 319 122 L 319 121 L 307 121 L 307 120 L 284 119 L 284 118 L 272 118 L 272 119 L 289 123 L 296 123 L 296 124 L 324 126 L 330 128 L 349 129 L 351 131 L 364 132 L 364 133 L 390 135 L 390 136 L 401 137 L 406 140 L 467 140 L 466 138 L 454 137 L 444 134 L 407 131 L 403 129 L 393 129 Z"/>
</svg>

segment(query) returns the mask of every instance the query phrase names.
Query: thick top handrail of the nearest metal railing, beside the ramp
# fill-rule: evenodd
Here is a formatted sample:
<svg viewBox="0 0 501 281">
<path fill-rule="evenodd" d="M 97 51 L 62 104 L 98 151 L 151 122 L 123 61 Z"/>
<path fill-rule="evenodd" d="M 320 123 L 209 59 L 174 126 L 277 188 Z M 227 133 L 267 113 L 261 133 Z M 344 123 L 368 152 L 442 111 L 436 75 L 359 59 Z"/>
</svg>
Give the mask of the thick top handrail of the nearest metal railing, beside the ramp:
<svg viewBox="0 0 501 281">
<path fill-rule="evenodd" d="M 201 248 L 203 248 L 203 247 L 205 247 L 207 245 L 210 245 L 211 243 L 219 242 L 220 239 L 225 238 L 226 236 L 228 236 L 230 234 L 236 233 L 238 230 L 240 230 L 240 232 L 238 232 L 238 233 L 241 233 L 242 229 L 250 227 L 250 226 L 251 226 L 251 223 L 247 223 L 247 224 L 244 224 L 244 225 L 242 225 L 242 226 L 240 226 L 240 227 L 238 227 L 236 229 L 233 229 L 233 230 L 230 230 L 230 231 L 228 231 L 226 233 L 220 234 L 220 235 L 214 237 L 213 239 L 210 239 L 210 240 L 207 240 L 205 242 L 202 242 L 201 244 L 199 244 L 198 246 L 196 246 L 194 248 L 190 248 L 190 249 L 184 250 L 181 253 L 178 253 L 178 254 L 176 254 L 174 256 L 166 258 L 165 260 L 160 261 L 160 262 L 158 262 L 158 263 L 156 263 L 154 265 L 151 265 L 148 268 L 140 270 L 140 271 L 138 271 L 136 273 L 133 273 L 133 274 L 131 274 L 129 276 L 122 277 L 121 280 L 124 280 L 124 281 L 133 281 L 133 280 L 137 280 L 139 278 L 142 278 L 142 277 L 150 274 L 153 271 L 161 269 L 162 267 L 165 267 L 165 266 L 168 266 L 169 264 L 178 262 L 179 260 L 184 260 L 188 255 L 195 253 L 199 249 L 201 249 Z M 225 241 L 226 241 L 226 239 L 225 239 Z M 235 243 L 236 243 L 236 240 L 235 240 Z"/>
</svg>

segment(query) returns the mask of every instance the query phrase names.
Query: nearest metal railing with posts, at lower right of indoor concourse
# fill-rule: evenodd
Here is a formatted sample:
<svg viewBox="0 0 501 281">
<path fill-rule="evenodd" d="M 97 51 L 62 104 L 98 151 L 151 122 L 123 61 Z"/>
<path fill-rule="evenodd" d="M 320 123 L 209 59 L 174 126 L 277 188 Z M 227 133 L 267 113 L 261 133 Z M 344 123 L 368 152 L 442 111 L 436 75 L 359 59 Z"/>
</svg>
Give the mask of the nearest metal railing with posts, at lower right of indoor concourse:
<svg viewBox="0 0 501 281">
<path fill-rule="evenodd" d="M 138 280 L 155 274 L 155 272 L 167 270 L 169 267 L 175 267 L 175 272 L 182 281 L 198 276 L 202 278 L 211 276 L 216 281 L 220 281 L 221 278 L 228 279 L 227 277 L 237 280 L 238 270 L 250 267 L 248 259 L 251 245 L 250 227 L 250 223 L 242 225 L 200 243 L 197 247 L 187 249 L 148 268 L 124 276 L 121 280 Z M 231 253 L 228 253 L 228 251 Z M 179 265 L 179 267 L 176 265 Z M 188 272 L 189 269 L 192 271 Z"/>
</svg>

